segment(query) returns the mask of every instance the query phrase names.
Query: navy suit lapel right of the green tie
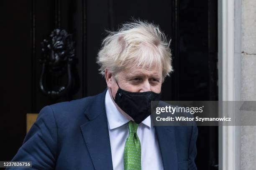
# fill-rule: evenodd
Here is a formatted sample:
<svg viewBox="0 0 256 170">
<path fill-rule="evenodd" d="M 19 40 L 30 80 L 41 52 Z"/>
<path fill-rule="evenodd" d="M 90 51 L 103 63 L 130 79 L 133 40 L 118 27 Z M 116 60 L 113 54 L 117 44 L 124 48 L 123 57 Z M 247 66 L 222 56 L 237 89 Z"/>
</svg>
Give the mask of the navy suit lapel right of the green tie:
<svg viewBox="0 0 256 170">
<path fill-rule="evenodd" d="M 155 126 L 164 170 L 178 170 L 174 127 Z"/>
</svg>

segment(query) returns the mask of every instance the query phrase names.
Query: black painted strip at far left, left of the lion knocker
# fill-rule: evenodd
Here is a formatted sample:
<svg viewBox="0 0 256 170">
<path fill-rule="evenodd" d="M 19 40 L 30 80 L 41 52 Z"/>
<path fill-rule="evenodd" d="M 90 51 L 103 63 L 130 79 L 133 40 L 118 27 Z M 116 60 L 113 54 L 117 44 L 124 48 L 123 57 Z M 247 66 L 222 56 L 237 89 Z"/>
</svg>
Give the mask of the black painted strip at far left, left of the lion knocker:
<svg viewBox="0 0 256 170">
<path fill-rule="evenodd" d="M 1 17 L 1 151 L 10 160 L 26 135 L 25 113 L 32 107 L 31 1 L 6 1 Z M 25 64 L 26 63 L 26 64 Z"/>
</svg>

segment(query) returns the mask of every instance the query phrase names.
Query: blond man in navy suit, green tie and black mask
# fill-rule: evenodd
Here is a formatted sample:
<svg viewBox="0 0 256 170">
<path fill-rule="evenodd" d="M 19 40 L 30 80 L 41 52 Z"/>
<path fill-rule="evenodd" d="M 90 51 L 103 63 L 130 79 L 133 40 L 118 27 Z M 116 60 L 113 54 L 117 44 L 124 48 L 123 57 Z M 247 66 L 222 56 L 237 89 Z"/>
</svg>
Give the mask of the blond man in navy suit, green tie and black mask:
<svg viewBox="0 0 256 170">
<path fill-rule="evenodd" d="M 172 71 L 159 27 L 123 24 L 103 40 L 97 63 L 108 88 L 44 107 L 13 161 L 40 170 L 196 170 L 196 126 L 151 122 L 151 100 Z"/>
</svg>

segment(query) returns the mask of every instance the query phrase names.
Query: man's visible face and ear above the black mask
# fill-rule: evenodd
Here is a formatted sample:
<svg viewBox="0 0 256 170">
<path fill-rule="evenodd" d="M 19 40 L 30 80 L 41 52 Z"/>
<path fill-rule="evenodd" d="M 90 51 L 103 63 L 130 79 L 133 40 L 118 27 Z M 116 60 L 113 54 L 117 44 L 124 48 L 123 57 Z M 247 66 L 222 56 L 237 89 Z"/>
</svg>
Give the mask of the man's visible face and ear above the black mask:
<svg viewBox="0 0 256 170">
<path fill-rule="evenodd" d="M 129 92 L 147 92 L 147 91 L 152 91 L 156 93 L 161 92 L 161 85 L 162 85 L 162 68 L 161 67 L 160 68 L 151 67 L 147 69 L 142 69 L 141 67 L 131 67 L 130 69 L 126 69 L 118 72 L 115 78 L 106 69 L 105 76 L 106 76 L 106 82 L 107 82 L 111 97 L 112 95 L 113 97 L 115 97 L 115 94 L 118 90 L 118 85 L 121 89 Z M 111 91 L 112 91 L 112 94 L 111 94 Z M 120 110 L 119 107 L 118 107 L 118 110 Z M 127 117 L 127 115 L 125 116 Z M 131 119 L 131 117 L 128 117 L 128 118 Z"/>
</svg>

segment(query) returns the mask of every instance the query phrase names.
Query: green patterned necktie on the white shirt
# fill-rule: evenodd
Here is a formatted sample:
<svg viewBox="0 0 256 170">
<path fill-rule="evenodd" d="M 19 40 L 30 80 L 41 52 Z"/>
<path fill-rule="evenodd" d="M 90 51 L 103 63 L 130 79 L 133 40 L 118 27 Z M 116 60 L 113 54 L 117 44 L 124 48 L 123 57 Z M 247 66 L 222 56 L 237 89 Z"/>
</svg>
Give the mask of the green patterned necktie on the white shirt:
<svg viewBox="0 0 256 170">
<path fill-rule="evenodd" d="M 141 170 L 141 143 L 137 135 L 138 124 L 128 122 L 129 135 L 123 153 L 124 170 Z"/>
</svg>

